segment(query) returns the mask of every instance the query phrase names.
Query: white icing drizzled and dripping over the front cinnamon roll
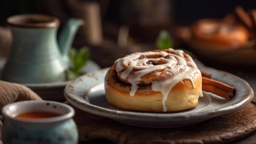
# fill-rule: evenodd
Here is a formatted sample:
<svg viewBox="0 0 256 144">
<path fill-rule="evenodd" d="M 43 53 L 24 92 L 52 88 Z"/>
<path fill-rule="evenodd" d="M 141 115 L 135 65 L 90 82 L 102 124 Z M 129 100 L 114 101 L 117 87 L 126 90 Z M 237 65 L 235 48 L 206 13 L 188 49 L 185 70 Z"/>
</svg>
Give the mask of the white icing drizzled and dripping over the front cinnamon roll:
<svg viewBox="0 0 256 144">
<path fill-rule="evenodd" d="M 173 49 L 169 49 L 173 50 Z M 140 56 L 148 55 L 160 55 L 160 58 L 140 58 Z M 152 62 L 157 63 L 159 60 L 164 61 L 163 64 L 153 65 Z M 192 83 L 192 86 L 195 88 L 193 78 L 195 73 L 201 72 L 198 70 L 195 62 L 192 58 L 184 58 L 182 50 L 174 50 L 174 54 L 167 53 L 164 51 L 161 52 L 137 52 L 131 55 L 127 55 L 124 58 L 116 60 L 116 71 L 122 71 L 125 65 L 128 65 L 128 68 L 125 69 L 120 75 L 121 78 L 128 79 L 128 82 L 131 83 L 130 95 L 134 96 L 137 88 L 137 84 L 140 83 L 141 77 L 148 73 L 151 73 L 156 70 L 166 69 L 166 72 L 160 74 L 158 72 L 155 75 L 166 77 L 164 80 L 152 81 L 151 89 L 153 91 L 160 91 L 163 95 L 163 111 L 167 111 L 165 101 L 168 97 L 168 94 L 173 86 L 183 80 L 189 80 Z M 130 75 L 130 72 L 133 69 L 139 69 Z M 202 85 L 202 83 L 201 83 Z M 202 90 L 200 96 L 203 96 Z"/>
</svg>

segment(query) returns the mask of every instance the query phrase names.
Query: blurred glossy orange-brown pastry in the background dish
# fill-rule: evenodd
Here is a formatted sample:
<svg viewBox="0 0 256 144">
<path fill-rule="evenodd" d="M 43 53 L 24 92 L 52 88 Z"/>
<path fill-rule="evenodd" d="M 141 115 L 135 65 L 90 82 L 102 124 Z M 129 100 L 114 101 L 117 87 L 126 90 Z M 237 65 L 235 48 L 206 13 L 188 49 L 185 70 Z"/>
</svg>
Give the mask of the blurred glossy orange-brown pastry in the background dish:
<svg viewBox="0 0 256 144">
<path fill-rule="evenodd" d="M 236 49 L 247 44 L 249 32 L 240 25 L 202 19 L 192 25 L 192 40 L 202 48 Z"/>
</svg>

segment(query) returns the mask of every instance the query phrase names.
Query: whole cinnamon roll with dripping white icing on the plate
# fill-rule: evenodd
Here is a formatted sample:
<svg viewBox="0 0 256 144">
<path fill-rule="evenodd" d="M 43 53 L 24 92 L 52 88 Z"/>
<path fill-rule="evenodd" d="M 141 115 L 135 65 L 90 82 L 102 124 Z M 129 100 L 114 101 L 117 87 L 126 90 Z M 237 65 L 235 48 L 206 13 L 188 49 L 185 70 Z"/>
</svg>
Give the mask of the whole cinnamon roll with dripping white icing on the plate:
<svg viewBox="0 0 256 144">
<path fill-rule="evenodd" d="M 192 109 L 202 96 L 202 78 L 182 50 L 154 50 L 126 55 L 108 70 L 105 92 L 119 109 L 177 112 Z"/>
</svg>

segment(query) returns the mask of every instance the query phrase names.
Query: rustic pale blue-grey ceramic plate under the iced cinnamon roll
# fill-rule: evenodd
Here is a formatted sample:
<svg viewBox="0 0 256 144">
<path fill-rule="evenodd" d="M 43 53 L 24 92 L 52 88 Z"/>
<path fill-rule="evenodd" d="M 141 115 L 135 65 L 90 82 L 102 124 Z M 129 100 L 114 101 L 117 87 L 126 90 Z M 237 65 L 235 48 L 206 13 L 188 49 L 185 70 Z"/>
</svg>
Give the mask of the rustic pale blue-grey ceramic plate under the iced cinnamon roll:
<svg viewBox="0 0 256 144">
<path fill-rule="evenodd" d="M 228 101 L 212 93 L 203 92 L 204 97 L 199 98 L 198 106 L 186 111 L 172 113 L 126 111 L 108 104 L 105 98 L 104 77 L 108 69 L 101 69 L 77 78 L 66 86 L 64 95 L 70 104 L 85 112 L 112 118 L 124 124 L 155 128 L 196 124 L 234 112 L 252 100 L 253 90 L 243 79 L 208 67 L 201 69 L 211 73 L 213 79 L 236 87 L 237 93 L 233 100 Z"/>
</svg>

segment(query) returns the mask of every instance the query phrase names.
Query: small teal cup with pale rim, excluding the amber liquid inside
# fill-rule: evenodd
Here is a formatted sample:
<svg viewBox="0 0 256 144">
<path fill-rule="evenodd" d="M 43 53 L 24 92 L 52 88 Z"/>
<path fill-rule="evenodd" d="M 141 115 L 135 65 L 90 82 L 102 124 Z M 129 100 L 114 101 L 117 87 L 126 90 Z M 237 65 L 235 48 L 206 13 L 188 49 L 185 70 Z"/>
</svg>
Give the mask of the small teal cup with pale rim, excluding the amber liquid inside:
<svg viewBox="0 0 256 144">
<path fill-rule="evenodd" d="M 23 119 L 24 112 L 55 112 L 60 116 Z M 67 104 L 54 101 L 20 101 L 2 109 L 3 144 L 77 144 L 78 130 L 73 120 L 75 111 Z"/>
</svg>

